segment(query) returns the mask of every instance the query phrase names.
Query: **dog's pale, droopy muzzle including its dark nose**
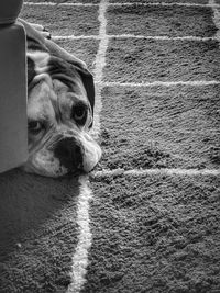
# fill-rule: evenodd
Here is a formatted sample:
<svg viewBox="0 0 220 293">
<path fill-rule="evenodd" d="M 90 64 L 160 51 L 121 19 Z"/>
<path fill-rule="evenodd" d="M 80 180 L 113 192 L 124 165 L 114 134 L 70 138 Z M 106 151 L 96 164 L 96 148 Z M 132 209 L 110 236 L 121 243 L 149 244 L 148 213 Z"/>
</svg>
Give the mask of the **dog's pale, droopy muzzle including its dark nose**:
<svg viewBox="0 0 220 293">
<path fill-rule="evenodd" d="M 90 172 L 101 158 L 101 148 L 87 134 L 50 137 L 30 155 L 23 169 L 47 177 L 61 177 L 78 171 Z"/>
</svg>

